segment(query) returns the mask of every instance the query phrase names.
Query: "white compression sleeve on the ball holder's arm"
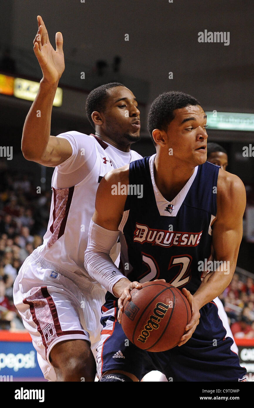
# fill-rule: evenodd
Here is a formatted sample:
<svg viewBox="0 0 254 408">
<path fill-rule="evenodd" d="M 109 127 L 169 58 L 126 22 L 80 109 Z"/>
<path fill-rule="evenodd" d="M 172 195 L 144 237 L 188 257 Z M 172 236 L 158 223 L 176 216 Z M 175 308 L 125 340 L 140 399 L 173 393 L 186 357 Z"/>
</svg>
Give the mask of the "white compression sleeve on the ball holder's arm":
<svg viewBox="0 0 254 408">
<path fill-rule="evenodd" d="M 84 266 L 89 275 L 112 294 L 114 284 L 125 278 L 109 256 L 118 236 L 119 231 L 107 230 L 90 221 Z"/>
</svg>

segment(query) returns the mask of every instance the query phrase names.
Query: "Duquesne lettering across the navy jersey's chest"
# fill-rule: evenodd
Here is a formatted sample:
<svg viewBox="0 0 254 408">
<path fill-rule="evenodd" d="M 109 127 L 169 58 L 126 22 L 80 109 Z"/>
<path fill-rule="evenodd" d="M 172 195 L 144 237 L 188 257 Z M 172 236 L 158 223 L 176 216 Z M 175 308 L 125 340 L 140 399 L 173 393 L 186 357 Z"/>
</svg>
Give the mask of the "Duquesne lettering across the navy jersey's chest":
<svg viewBox="0 0 254 408">
<path fill-rule="evenodd" d="M 152 245 L 160 246 L 197 246 L 202 233 L 203 231 L 198 233 L 165 231 L 136 223 L 133 240 L 141 244 L 149 242 Z"/>
</svg>

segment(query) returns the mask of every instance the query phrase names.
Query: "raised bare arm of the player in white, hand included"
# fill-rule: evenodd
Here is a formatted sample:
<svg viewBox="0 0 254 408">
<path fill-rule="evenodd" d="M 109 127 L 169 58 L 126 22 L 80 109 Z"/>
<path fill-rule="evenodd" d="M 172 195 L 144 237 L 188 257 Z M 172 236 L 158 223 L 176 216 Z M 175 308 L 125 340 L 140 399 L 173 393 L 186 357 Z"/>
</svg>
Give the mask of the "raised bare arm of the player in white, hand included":
<svg viewBox="0 0 254 408">
<path fill-rule="evenodd" d="M 21 150 L 27 160 L 49 167 L 58 166 L 72 153 L 68 140 L 50 136 L 51 111 L 60 77 L 65 69 L 62 34 L 56 33 L 56 51 L 49 42 L 40 16 L 33 50 L 42 69 L 40 88 L 25 120 Z M 38 111 L 40 112 L 38 114 Z"/>
</svg>

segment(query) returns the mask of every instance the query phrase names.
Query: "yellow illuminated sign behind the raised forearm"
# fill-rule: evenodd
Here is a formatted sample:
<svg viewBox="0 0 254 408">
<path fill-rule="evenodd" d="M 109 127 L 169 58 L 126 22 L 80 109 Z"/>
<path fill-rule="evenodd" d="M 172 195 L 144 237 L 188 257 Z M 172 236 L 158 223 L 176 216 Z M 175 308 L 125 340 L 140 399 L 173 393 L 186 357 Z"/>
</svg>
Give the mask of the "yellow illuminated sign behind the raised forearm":
<svg viewBox="0 0 254 408">
<path fill-rule="evenodd" d="M 40 83 L 29 81 L 23 78 L 15 78 L 13 95 L 16 98 L 26 99 L 33 101 L 38 93 Z M 53 106 L 62 105 L 62 89 L 57 88 L 56 95 L 53 101 Z"/>
</svg>

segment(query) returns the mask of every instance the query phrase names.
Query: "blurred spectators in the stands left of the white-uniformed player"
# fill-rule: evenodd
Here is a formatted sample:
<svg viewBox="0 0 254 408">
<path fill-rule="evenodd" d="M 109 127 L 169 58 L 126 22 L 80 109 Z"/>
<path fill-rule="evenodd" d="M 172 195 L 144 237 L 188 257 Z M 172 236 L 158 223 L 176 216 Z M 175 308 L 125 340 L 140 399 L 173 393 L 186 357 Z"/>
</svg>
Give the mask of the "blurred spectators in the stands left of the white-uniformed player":
<svg viewBox="0 0 254 408">
<path fill-rule="evenodd" d="M 37 191 L 27 174 L 0 173 L 0 329 L 24 329 L 12 290 L 20 266 L 47 231 L 51 191 Z"/>
</svg>

